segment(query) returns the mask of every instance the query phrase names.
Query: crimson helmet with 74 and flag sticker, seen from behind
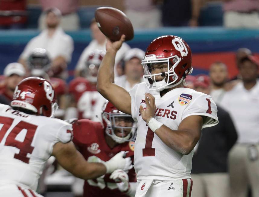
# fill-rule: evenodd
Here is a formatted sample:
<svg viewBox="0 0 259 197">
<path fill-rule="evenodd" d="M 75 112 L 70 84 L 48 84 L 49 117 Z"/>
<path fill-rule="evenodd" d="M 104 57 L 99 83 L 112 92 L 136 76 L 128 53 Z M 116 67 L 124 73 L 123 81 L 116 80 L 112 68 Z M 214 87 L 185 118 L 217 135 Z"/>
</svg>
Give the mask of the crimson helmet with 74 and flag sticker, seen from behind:
<svg viewBox="0 0 259 197">
<path fill-rule="evenodd" d="M 16 86 L 11 106 L 47 117 L 53 117 L 58 108 L 52 85 L 39 77 L 25 78 Z"/>
</svg>

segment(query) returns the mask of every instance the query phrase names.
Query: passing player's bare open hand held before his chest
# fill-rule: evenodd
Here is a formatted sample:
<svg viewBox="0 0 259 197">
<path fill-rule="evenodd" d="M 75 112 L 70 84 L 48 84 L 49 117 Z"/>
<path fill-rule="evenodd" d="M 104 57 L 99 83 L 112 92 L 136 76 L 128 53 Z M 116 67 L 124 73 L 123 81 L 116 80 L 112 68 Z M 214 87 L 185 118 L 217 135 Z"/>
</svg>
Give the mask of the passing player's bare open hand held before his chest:
<svg viewBox="0 0 259 197">
<path fill-rule="evenodd" d="M 145 101 L 147 107 L 144 109 L 142 105 L 139 107 L 139 111 L 141 113 L 141 117 L 144 121 L 149 123 L 149 120 L 154 117 L 155 115 L 155 97 L 152 94 L 145 93 Z"/>
</svg>

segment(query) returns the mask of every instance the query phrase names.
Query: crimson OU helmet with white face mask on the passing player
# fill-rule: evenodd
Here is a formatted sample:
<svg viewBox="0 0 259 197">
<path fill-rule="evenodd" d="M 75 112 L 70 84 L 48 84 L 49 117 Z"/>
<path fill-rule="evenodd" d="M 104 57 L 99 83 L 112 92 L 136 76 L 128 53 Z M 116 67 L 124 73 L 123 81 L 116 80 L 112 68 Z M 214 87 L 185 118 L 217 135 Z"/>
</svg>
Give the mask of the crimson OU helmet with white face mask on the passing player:
<svg viewBox="0 0 259 197">
<path fill-rule="evenodd" d="M 149 90 L 158 92 L 177 86 L 185 77 L 192 73 L 192 54 L 189 45 L 177 36 L 161 36 L 153 40 L 142 60 L 144 80 Z M 166 72 L 151 74 L 150 64 L 167 63 Z M 156 82 L 155 76 L 165 76 L 162 81 Z"/>
</svg>

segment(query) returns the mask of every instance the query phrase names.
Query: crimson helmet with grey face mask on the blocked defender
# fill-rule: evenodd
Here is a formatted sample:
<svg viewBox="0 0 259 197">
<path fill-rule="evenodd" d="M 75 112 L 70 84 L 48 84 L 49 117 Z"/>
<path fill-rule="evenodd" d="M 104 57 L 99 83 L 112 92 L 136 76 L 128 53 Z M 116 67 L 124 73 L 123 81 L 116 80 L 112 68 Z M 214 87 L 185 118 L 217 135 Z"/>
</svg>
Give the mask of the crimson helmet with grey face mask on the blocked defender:
<svg viewBox="0 0 259 197">
<path fill-rule="evenodd" d="M 119 111 L 109 101 L 104 103 L 102 111 L 102 121 L 108 136 L 120 144 L 125 141 L 135 140 L 137 125 L 131 115 Z M 129 132 L 129 134 L 125 134 L 127 132 Z M 115 133 L 119 133 L 121 137 Z"/>
</svg>

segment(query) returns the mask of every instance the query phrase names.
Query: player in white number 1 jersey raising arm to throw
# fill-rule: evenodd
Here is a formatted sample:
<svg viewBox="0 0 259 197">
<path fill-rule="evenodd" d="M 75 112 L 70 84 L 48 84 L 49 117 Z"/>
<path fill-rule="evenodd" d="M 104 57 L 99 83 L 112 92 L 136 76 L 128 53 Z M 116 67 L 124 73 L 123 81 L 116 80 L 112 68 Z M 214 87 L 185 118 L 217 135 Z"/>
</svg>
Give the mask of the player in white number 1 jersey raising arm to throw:
<svg viewBox="0 0 259 197">
<path fill-rule="evenodd" d="M 177 36 L 153 40 L 142 60 L 144 81 L 127 92 L 113 83 L 114 57 L 125 40 L 107 42 L 97 90 L 138 121 L 134 168 L 137 197 L 190 196 L 193 148 L 201 129 L 218 123 L 211 96 L 184 88 L 192 72 L 191 50 Z"/>
</svg>

